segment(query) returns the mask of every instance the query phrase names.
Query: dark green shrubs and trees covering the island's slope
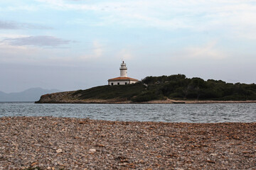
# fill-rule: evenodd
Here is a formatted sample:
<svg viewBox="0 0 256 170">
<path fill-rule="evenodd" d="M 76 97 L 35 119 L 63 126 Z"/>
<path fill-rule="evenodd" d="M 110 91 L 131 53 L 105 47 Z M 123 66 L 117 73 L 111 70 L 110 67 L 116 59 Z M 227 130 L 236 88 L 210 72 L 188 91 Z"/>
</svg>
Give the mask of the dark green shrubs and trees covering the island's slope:
<svg viewBox="0 0 256 170">
<path fill-rule="evenodd" d="M 100 98 L 132 100 L 134 102 L 161 100 L 165 98 L 183 100 L 256 100 L 256 84 L 230 84 L 221 80 L 186 78 L 183 74 L 146 77 L 137 84 L 124 86 L 98 86 L 76 91 L 80 99 Z M 75 95 L 74 94 L 74 95 Z"/>
</svg>

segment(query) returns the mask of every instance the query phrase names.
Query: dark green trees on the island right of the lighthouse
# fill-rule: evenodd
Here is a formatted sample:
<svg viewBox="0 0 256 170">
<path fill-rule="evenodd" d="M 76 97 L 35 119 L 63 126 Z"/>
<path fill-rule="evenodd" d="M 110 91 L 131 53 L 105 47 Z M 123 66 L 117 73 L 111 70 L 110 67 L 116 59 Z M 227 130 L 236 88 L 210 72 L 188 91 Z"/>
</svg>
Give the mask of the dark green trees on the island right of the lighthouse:
<svg viewBox="0 0 256 170">
<path fill-rule="evenodd" d="M 187 78 L 184 74 L 161 77 L 145 77 L 139 84 L 145 86 L 132 101 L 151 101 L 173 98 L 183 100 L 256 100 L 256 84 L 232 84 L 221 80 Z"/>
</svg>

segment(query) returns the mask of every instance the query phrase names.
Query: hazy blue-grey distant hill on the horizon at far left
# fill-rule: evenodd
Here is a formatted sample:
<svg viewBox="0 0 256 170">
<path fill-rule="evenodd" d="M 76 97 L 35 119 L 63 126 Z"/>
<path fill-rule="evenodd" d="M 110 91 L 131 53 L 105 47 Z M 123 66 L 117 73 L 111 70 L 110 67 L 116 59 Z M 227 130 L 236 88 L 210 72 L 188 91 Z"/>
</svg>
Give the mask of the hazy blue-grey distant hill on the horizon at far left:
<svg viewBox="0 0 256 170">
<path fill-rule="evenodd" d="M 38 101 L 40 96 L 43 94 L 51 94 L 54 92 L 59 92 L 57 89 L 41 89 L 41 88 L 31 88 L 26 91 L 21 91 L 18 93 L 6 94 L 0 91 L 0 101 Z"/>
</svg>

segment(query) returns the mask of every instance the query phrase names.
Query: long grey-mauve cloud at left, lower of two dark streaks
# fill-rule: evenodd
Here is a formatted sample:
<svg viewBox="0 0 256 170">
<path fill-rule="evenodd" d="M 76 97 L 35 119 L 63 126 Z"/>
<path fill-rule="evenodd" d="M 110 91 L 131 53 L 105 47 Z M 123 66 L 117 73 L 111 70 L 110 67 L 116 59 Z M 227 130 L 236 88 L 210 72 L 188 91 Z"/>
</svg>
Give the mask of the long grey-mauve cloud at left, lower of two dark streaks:
<svg viewBox="0 0 256 170">
<path fill-rule="evenodd" d="M 71 40 L 63 40 L 53 36 L 29 36 L 23 38 L 6 38 L 2 42 L 14 46 L 33 45 L 39 47 L 58 47 L 60 45 L 67 45 Z"/>
</svg>

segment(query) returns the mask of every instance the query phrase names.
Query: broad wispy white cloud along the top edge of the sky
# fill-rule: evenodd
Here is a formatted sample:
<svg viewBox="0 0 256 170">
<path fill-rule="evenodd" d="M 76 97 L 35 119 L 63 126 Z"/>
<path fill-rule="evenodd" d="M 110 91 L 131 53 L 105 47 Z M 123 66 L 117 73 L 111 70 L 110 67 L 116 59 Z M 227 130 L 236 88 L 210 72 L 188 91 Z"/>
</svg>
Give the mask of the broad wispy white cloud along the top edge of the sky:
<svg viewBox="0 0 256 170">
<path fill-rule="evenodd" d="M 234 1 L 63 1 L 37 0 L 49 8 L 62 11 L 93 11 L 100 19 L 92 26 L 158 28 L 192 31 L 228 30 L 251 28 L 256 33 L 256 4 L 250 0 Z"/>
</svg>

